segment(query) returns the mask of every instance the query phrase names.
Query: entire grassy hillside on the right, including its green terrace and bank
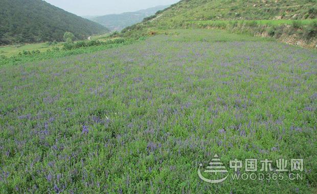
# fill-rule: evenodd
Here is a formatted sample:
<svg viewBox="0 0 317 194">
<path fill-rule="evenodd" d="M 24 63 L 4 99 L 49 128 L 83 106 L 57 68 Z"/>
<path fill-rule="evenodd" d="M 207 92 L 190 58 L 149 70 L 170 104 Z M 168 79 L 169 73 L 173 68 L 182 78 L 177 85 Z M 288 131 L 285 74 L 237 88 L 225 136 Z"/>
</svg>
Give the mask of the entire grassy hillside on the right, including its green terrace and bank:
<svg viewBox="0 0 317 194">
<path fill-rule="evenodd" d="M 269 22 L 274 26 L 278 24 L 274 20 L 309 20 L 317 16 L 317 2 L 314 0 L 183 0 L 164 11 L 157 12 L 154 16 L 148 18 L 142 23 L 133 25 L 123 30 L 124 36 L 139 36 L 152 33 L 157 29 L 177 29 L 177 28 L 209 28 L 217 26 L 209 25 L 191 25 L 195 22 L 208 24 L 208 22 L 221 21 L 241 21 L 241 20 L 271 20 Z M 207 22 L 204 22 L 207 21 Z M 268 22 L 267 22 L 268 23 Z M 261 34 L 263 31 L 269 33 L 269 27 L 265 22 L 251 23 L 253 34 Z M 290 22 L 285 22 L 285 26 Z M 310 23 L 307 21 L 307 23 Z M 232 30 L 237 27 L 237 23 L 225 26 Z M 264 27 L 263 27 L 264 25 Z M 279 25 L 279 24 L 278 24 Z M 248 26 L 248 25 L 247 25 Z M 221 26 L 223 29 L 224 26 Z M 276 30 L 276 29 L 273 29 Z M 291 34 L 298 31 L 293 29 L 278 29 L 277 34 Z M 304 32 L 306 30 L 306 32 Z M 235 31 L 250 32 L 245 30 L 245 25 L 238 26 Z M 306 33 L 306 34 L 305 34 Z M 307 29 L 299 31 L 300 36 L 308 38 L 317 34 L 317 22 L 311 23 Z M 308 35 L 307 35 L 308 34 Z M 313 36 L 312 36 L 313 35 Z"/>
</svg>

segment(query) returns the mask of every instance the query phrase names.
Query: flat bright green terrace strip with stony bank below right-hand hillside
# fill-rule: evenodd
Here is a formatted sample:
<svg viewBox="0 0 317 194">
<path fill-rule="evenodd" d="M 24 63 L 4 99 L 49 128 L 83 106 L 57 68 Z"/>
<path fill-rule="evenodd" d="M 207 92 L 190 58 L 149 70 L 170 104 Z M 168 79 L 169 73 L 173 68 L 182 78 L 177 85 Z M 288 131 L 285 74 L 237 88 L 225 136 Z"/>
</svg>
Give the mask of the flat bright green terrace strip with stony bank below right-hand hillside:
<svg viewBox="0 0 317 194">
<path fill-rule="evenodd" d="M 290 27 L 289 27 L 290 26 Z M 279 39 L 282 35 L 297 37 L 307 43 L 309 48 L 315 48 L 313 42 L 317 36 L 317 20 L 201 20 L 184 22 L 183 28 L 213 28 L 228 30 L 232 33 L 244 33 L 252 36 L 269 35 Z M 291 38 L 290 38 L 291 39 Z M 281 41 L 285 41 L 285 38 Z M 298 40 L 293 40 L 296 43 Z M 312 43 L 312 44 L 311 44 Z"/>
</svg>

